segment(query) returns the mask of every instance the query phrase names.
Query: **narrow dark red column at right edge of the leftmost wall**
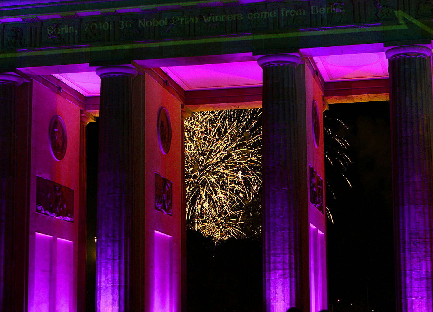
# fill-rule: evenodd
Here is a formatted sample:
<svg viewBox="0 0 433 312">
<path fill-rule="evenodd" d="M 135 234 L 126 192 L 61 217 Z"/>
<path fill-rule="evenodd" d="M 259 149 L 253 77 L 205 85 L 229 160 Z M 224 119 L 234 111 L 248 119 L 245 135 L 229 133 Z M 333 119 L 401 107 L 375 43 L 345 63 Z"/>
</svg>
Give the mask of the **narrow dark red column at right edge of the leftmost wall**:
<svg viewBox="0 0 433 312">
<path fill-rule="evenodd" d="M 77 312 L 86 312 L 86 258 L 87 258 L 87 123 L 94 117 L 80 111 L 80 189 L 78 190 L 78 283 Z"/>
</svg>

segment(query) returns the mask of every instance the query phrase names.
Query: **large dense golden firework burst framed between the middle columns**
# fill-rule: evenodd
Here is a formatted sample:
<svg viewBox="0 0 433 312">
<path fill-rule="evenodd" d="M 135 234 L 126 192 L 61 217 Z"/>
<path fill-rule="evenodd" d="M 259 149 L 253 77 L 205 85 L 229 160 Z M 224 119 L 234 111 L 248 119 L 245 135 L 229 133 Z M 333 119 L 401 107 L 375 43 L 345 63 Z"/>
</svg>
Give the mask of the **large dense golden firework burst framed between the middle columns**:
<svg viewBox="0 0 433 312">
<path fill-rule="evenodd" d="M 260 109 L 195 112 L 185 120 L 187 223 L 214 240 L 243 237 L 261 186 Z"/>
</svg>

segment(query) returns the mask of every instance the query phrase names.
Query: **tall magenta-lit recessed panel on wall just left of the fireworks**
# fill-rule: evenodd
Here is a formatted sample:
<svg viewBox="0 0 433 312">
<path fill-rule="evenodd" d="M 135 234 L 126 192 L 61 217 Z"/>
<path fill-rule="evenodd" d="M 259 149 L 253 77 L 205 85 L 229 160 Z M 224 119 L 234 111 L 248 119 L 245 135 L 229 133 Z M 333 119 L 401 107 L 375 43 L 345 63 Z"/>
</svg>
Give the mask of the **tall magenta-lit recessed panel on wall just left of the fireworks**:
<svg viewBox="0 0 433 312">
<path fill-rule="evenodd" d="M 173 237 L 155 231 L 154 312 L 172 312 Z"/>
</svg>

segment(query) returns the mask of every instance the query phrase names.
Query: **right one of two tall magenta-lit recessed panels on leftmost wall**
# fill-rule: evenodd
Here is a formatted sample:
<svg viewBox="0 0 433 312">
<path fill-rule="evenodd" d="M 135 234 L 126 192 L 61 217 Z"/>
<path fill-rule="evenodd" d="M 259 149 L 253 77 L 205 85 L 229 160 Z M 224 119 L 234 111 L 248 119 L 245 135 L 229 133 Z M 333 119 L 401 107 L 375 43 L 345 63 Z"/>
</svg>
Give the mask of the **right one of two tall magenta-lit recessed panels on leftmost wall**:
<svg viewBox="0 0 433 312">
<path fill-rule="evenodd" d="M 57 239 L 56 312 L 72 311 L 74 242 Z"/>
</svg>

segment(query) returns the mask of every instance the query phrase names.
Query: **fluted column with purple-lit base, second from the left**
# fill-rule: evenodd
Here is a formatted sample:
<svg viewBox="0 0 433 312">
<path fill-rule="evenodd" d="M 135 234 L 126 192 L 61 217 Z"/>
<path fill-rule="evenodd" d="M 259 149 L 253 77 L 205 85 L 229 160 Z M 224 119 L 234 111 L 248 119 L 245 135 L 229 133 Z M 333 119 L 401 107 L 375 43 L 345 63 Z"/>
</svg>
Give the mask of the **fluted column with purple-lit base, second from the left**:
<svg viewBox="0 0 433 312">
<path fill-rule="evenodd" d="M 97 188 L 96 308 L 126 312 L 132 214 L 132 79 L 126 66 L 97 68 L 101 78 Z"/>
</svg>

